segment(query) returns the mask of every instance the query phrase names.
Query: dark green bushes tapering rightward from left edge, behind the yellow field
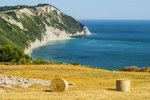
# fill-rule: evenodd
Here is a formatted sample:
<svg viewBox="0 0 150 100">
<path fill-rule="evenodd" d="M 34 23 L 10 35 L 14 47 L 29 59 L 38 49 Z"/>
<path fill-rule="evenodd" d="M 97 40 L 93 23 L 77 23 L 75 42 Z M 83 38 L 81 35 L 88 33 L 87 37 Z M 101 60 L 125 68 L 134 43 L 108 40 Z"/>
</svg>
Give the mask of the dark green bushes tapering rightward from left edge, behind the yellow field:
<svg viewBox="0 0 150 100">
<path fill-rule="evenodd" d="M 0 64 L 1 65 L 47 65 L 58 64 L 63 65 L 67 63 L 46 61 L 42 58 L 32 59 L 28 55 L 19 51 L 17 48 L 11 47 L 11 45 L 4 45 L 0 47 Z M 72 63 L 72 65 L 80 65 L 78 63 Z"/>
</svg>

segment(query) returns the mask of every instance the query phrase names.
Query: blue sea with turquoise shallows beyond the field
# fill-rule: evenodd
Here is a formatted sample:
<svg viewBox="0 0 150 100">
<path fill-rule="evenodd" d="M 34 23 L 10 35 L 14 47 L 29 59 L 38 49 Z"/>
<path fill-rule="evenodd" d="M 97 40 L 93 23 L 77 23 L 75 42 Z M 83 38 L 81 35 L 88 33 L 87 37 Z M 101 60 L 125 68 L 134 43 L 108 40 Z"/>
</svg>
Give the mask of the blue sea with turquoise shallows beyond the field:
<svg viewBox="0 0 150 100">
<path fill-rule="evenodd" d="M 80 20 L 90 32 L 54 41 L 32 51 L 31 57 L 115 70 L 150 66 L 150 20 Z"/>
</svg>

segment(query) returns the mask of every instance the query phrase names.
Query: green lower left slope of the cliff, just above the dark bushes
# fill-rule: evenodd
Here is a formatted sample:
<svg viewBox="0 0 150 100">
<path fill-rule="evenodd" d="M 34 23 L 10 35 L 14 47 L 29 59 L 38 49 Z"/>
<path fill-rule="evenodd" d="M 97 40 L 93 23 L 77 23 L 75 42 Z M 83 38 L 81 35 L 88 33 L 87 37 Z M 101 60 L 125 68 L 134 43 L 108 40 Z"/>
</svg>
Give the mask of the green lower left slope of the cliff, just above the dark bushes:
<svg viewBox="0 0 150 100">
<path fill-rule="evenodd" d="M 27 44 L 27 36 L 16 25 L 12 25 L 0 17 L 0 46 L 10 44 L 23 51 Z"/>
</svg>

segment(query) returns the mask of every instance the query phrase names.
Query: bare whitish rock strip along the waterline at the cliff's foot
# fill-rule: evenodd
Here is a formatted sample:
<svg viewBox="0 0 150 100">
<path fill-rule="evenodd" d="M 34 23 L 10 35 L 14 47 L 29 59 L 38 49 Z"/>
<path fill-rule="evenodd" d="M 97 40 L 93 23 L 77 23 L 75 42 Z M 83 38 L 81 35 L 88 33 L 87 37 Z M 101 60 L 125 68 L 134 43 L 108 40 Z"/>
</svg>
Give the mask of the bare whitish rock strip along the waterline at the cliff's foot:
<svg viewBox="0 0 150 100">
<path fill-rule="evenodd" d="M 72 35 L 71 33 L 67 33 L 65 31 L 46 26 L 46 32 L 42 34 L 43 39 L 41 41 L 36 39 L 34 42 L 29 42 L 29 46 L 25 48 L 24 53 L 30 56 L 32 51 L 36 48 L 39 48 L 41 46 L 47 45 L 55 41 L 73 39 L 71 38 L 71 36 L 77 35 L 91 35 L 91 32 L 85 26 L 81 32 L 77 32 L 76 34 Z"/>
</svg>

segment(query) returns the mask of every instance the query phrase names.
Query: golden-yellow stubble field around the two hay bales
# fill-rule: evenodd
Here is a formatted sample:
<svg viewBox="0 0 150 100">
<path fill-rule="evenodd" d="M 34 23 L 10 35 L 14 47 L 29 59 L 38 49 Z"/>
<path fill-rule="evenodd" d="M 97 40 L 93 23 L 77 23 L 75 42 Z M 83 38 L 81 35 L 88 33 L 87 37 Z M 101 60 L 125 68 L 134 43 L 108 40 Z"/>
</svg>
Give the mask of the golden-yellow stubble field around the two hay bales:
<svg viewBox="0 0 150 100">
<path fill-rule="evenodd" d="M 63 93 L 44 92 L 49 87 L 6 89 L 0 100 L 150 100 L 150 73 L 116 72 L 73 65 L 0 65 L 0 74 L 51 80 L 65 78 L 77 87 Z M 116 79 L 130 79 L 131 92 L 115 91 Z"/>
</svg>

